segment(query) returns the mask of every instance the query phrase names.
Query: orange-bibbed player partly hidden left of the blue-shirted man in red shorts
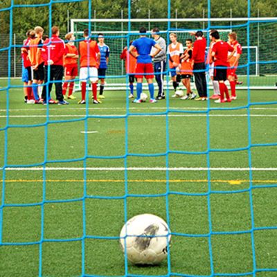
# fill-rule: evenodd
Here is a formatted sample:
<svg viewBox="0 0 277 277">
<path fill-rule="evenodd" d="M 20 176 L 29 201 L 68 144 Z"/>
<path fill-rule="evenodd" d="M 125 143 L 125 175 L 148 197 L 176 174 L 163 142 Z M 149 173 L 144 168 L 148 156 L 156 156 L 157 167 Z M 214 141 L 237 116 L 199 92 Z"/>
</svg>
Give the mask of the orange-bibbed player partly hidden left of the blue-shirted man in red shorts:
<svg viewBox="0 0 277 277">
<path fill-rule="evenodd" d="M 132 42 L 129 43 L 129 46 L 131 45 Z M 136 49 L 134 49 L 134 52 L 136 52 Z M 125 60 L 125 71 L 129 74 L 129 98 L 134 98 L 134 73 L 136 73 L 136 58 L 128 53 L 128 48 L 126 46 L 120 55 L 120 59 Z"/>
</svg>

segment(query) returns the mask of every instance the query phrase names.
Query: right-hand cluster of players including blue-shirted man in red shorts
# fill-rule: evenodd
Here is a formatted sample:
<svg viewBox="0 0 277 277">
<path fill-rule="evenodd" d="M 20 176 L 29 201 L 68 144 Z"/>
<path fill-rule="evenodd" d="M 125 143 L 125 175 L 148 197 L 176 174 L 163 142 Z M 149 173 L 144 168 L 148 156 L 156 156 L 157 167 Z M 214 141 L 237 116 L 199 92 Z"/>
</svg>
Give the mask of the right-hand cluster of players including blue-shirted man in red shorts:
<svg viewBox="0 0 277 277">
<path fill-rule="evenodd" d="M 163 73 L 166 68 L 167 56 L 172 84 L 175 90 L 175 94 L 172 97 L 177 97 L 176 92 L 179 82 L 182 82 L 184 87 L 186 87 L 186 95 L 181 97 L 182 100 L 207 100 L 206 69 L 208 66 L 208 73 L 213 81 L 214 88 L 214 94 L 210 98 L 214 99 L 217 103 L 231 102 L 231 100 L 237 99 L 235 93 L 235 85 L 237 84 L 235 70 L 242 54 L 242 47 L 237 41 L 235 32 L 229 33 L 228 42 L 223 42 L 220 39 L 220 33 L 217 30 L 211 30 L 209 33 L 211 45 L 208 55 L 206 55 L 206 39 L 201 30 L 190 33 L 190 35 L 195 36 L 195 42 L 193 43 L 193 39 L 186 39 L 185 49 L 177 41 L 177 34 L 170 33 L 171 44 L 168 46 L 167 51 L 165 39 L 159 35 L 159 28 L 152 29 L 153 39 L 146 37 L 147 34 L 144 27 L 139 32 L 140 38 L 132 42 L 132 45 L 129 47 L 129 55 L 136 58 L 136 67 L 129 66 L 129 69 L 134 68 L 134 71 L 127 71 L 129 74 L 133 73 L 137 80 L 136 99 L 133 102 L 141 102 L 143 76 L 148 81 L 150 102 L 156 102 L 165 98 L 163 92 Z M 131 61 L 131 57 L 129 60 Z M 198 97 L 190 86 L 190 78 L 193 75 L 195 77 Z M 154 76 L 159 87 L 156 99 L 154 99 L 154 87 L 152 84 Z M 225 84 L 226 80 L 230 82 L 231 96 Z"/>
</svg>

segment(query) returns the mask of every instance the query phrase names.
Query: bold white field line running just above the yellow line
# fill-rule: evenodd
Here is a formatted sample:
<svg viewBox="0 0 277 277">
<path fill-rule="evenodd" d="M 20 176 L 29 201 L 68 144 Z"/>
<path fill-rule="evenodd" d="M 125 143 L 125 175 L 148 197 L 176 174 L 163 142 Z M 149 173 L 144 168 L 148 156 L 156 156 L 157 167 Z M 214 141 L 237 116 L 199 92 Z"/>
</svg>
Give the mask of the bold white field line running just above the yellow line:
<svg viewBox="0 0 277 277">
<path fill-rule="evenodd" d="M 33 171 L 33 170 L 68 170 L 68 171 L 79 171 L 79 170 L 89 170 L 89 171 L 123 171 L 125 168 L 119 167 L 119 168 L 42 168 L 42 167 L 35 167 L 35 168 L 5 168 L 5 170 L 11 170 L 11 171 Z M 213 170 L 213 171 L 249 171 L 250 168 L 126 168 L 129 171 L 207 171 L 207 170 Z M 0 168 L 0 170 L 3 170 L 3 168 Z M 251 168 L 253 171 L 277 171 L 277 168 Z"/>
</svg>

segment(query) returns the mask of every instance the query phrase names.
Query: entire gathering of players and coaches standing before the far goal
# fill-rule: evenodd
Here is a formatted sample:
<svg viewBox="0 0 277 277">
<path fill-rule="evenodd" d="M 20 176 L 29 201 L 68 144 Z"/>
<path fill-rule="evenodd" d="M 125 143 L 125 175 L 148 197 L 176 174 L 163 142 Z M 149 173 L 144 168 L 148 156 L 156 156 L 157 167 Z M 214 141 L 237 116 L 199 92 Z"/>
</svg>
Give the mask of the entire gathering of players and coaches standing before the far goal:
<svg viewBox="0 0 277 277">
<path fill-rule="evenodd" d="M 29 104 L 59 104 L 68 105 L 65 100 L 66 91 L 69 89 L 68 99 L 73 96 L 74 80 L 78 75 L 78 59 L 80 59 L 81 99 L 79 104 L 86 103 L 87 80 L 91 82 L 93 103 L 100 103 L 105 86 L 105 72 L 109 62 L 109 46 L 104 43 L 104 36 L 98 34 L 98 43 L 91 39 L 89 30 L 84 30 L 84 39 L 80 41 L 79 48 L 74 45 L 73 33 L 68 33 L 64 40 L 60 39 L 60 30 L 57 26 L 51 29 L 52 37 L 44 37 L 42 27 L 29 30 L 21 54 L 24 63 L 22 80 L 24 81 L 24 93 Z M 136 80 L 136 98 L 133 102 L 141 102 L 143 77 L 148 82 L 150 102 L 157 102 L 165 98 L 163 91 L 163 76 L 166 71 L 166 60 L 175 92 L 179 82 L 186 87 L 186 96 L 182 100 L 207 100 L 206 66 L 213 80 L 214 94 L 211 99 L 215 102 L 231 102 L 236 99 L 235 94 L 235 69 L 242 53 L 236 34 L 229 34 L 229 42 L 223 42 L 217 30 L 211 30 L 211 45 L 206 55 L 206 39 L 202 31 L 190 33 L 193 39 L 186 39 L 186 48 L 177 42 L 177 35 L 170 34 L 171 44 L 166 48 L 166 41 L 161 37 L 159 28 L 152 29 L 152 38 L 147 37 L 147 30 L 141 27 L 139 39 L 134 40 L 125 47 L 120 58 L 125 60 L 126 72 L 129 75 L 129 98 L 134 98 L 134 81 Z M 190 78 L 195 76 L 195 85 L 199 97 L 190 87 Z M 63 80 L 64 76 L 64 81 Z M 100 93 L 98 91 L 98 76 L 100 78 Z M 158 85 L 157 96 L 154 97 L 153 79 Z M 231 96 L 225 81 L 229 80 Z M 48 82 L 50 81 L 50 82 Z M 51 88 L 55 83 L 56 99 L 51 98 Z M 63 83 L 62 83 L 63 82 Z M 45 83 L 44 85 L 42 85 Z M 40 90 L 40 93 L 39 93 Z M 224 95 L 225 94 L 225 95 Z M 176 97 L 175 93 L 172 97 Z"/>
</svg>

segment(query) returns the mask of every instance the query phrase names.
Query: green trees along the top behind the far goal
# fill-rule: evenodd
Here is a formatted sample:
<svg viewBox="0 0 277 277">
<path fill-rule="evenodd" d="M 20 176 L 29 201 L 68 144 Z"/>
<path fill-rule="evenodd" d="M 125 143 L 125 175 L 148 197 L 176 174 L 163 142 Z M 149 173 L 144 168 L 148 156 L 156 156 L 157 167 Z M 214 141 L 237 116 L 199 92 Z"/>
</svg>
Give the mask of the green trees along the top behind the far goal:
<svg viewBox="0 0 277 277">
<path fill-rule="evenodd" d="M 11 4 L 13 3 L 12 9 Z M 168 0 L 131 0 L 132 18 L 168 17 Z M 211 0 L 211 17 L 247 17 L 247 0 Z M 21 6 L 22 5 L 22 6 Z M 39 5 L 35 7 L 36 5 Z M 251 0 L 251 17 L 276 17 L 276 0 Z M 12 11 L 12 12 L 11 12 Z M 48 26 L 60 26 L 61 33 L 68 30 L 69 19 L 86 18 L 128 18 L 127 0 L 2 0 L 0 1 L 1 33 L 24 34 L 34 26 L 43 26 L 48 33 Z M 170 17 L 175 18 L 208 17 L 208 0 L 170 3 Z M 12 17 L 12 20 L 11 20 Z"/>
</svg>

